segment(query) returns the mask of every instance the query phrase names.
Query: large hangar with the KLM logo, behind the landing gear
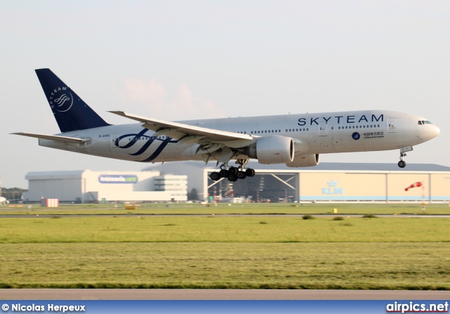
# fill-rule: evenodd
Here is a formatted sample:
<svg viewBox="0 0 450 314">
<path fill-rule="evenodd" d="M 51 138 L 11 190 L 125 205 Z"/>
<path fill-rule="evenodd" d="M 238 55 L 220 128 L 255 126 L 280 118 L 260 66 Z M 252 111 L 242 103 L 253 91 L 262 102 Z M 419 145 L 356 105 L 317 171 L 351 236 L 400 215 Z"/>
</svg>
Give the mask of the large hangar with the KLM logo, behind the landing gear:
<svg viewBox="0 0 450 314">
<path fill-rule="evenodd" d="M 200 198 L 216 201 L 233 197 L 250 202 L 450 201 L 450 167 L 437 164 L 408 164 L 404 169 L 397 164 L 321 163 L 307 168 L 249 164 L 256 175 L 236 182 L 212 181 L 209 175 L 216 169 L 200 162 L 166 163 L 155 169 L 187 174 L 188 190 L 196 188 Z M 416 182 L 420 188 L 405 191 Z"/>
</svg>

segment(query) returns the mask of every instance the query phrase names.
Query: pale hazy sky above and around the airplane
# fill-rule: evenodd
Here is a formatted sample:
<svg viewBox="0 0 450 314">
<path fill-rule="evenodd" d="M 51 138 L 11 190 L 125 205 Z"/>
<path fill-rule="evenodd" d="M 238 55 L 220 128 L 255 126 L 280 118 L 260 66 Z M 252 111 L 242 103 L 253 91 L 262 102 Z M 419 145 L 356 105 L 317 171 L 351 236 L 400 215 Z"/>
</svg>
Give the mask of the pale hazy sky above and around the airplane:
<svg viewBox="0 0 450 314">
<path fill-rule="evenodd" d="M 42 148 L 59 133 L 34 69 L 108 110 L 179 121 L 346 110 L 411 112 L 439 126 L 406 163 L 450 166 L 450 2 L 0 1 L 1 185 L 30 171 L 148 164 Z M 399 151 L 321 155 L 395 163 Z M 406 166 L 407 167 L 407 166 Z"/>
</svg>

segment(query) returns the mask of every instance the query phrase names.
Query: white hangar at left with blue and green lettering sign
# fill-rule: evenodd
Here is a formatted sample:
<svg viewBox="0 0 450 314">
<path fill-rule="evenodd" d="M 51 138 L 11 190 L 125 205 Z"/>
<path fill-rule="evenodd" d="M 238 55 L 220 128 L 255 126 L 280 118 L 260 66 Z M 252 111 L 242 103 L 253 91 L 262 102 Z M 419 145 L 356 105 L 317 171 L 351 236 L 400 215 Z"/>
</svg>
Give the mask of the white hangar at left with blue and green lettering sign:
<svg viewBox="0 0 450 314">
<path fill-rule="evenodd" d="M 30 172 L 26 202 L 41 198 L 61 202 L 186 202 L 187 176 L 160 171 L 43 171 Z"/>
</svg>

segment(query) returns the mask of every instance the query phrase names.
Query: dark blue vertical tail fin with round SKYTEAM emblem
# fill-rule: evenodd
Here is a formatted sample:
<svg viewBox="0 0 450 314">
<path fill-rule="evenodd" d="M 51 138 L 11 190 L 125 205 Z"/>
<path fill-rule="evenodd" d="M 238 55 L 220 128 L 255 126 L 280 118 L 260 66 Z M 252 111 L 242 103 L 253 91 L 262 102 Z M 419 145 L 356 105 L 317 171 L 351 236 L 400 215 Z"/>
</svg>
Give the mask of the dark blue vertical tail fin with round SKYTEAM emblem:
<svg viewBox="0 0 450 314">
<path fill-rule="evenodd" d="M 35 70 L 61 132 L 108 126 L 94 110 L 50 69 Z"/>
</svg>

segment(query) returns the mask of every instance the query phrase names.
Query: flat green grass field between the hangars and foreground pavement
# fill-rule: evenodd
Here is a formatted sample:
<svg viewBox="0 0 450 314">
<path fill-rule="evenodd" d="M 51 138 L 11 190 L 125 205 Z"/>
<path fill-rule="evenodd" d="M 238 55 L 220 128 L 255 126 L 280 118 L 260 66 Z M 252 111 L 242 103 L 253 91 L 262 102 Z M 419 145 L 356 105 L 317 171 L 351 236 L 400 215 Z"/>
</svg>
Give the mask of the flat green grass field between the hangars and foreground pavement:
<svg viewBox="0 0 450 314">
<path fill-rule="evenodd" d="M 243 211 L 325 214 L 346 207 L 313 205 Z M 357 206 L 345 210 L 392 210 L 371 205 L 356 213 Z M 449 211 L 441 207 L 435 209 Z M 408 205 L 386 214 L 411 209 L 420 213 L 420 205 Z M 79 210 L 119 209 L 65 209 Z M 450 289 L 450 217 L 139 216 L 155 210 L 62 218 L 13 218 L 15 211 L 0 218 L 0 288 Z"/>
</svg>

